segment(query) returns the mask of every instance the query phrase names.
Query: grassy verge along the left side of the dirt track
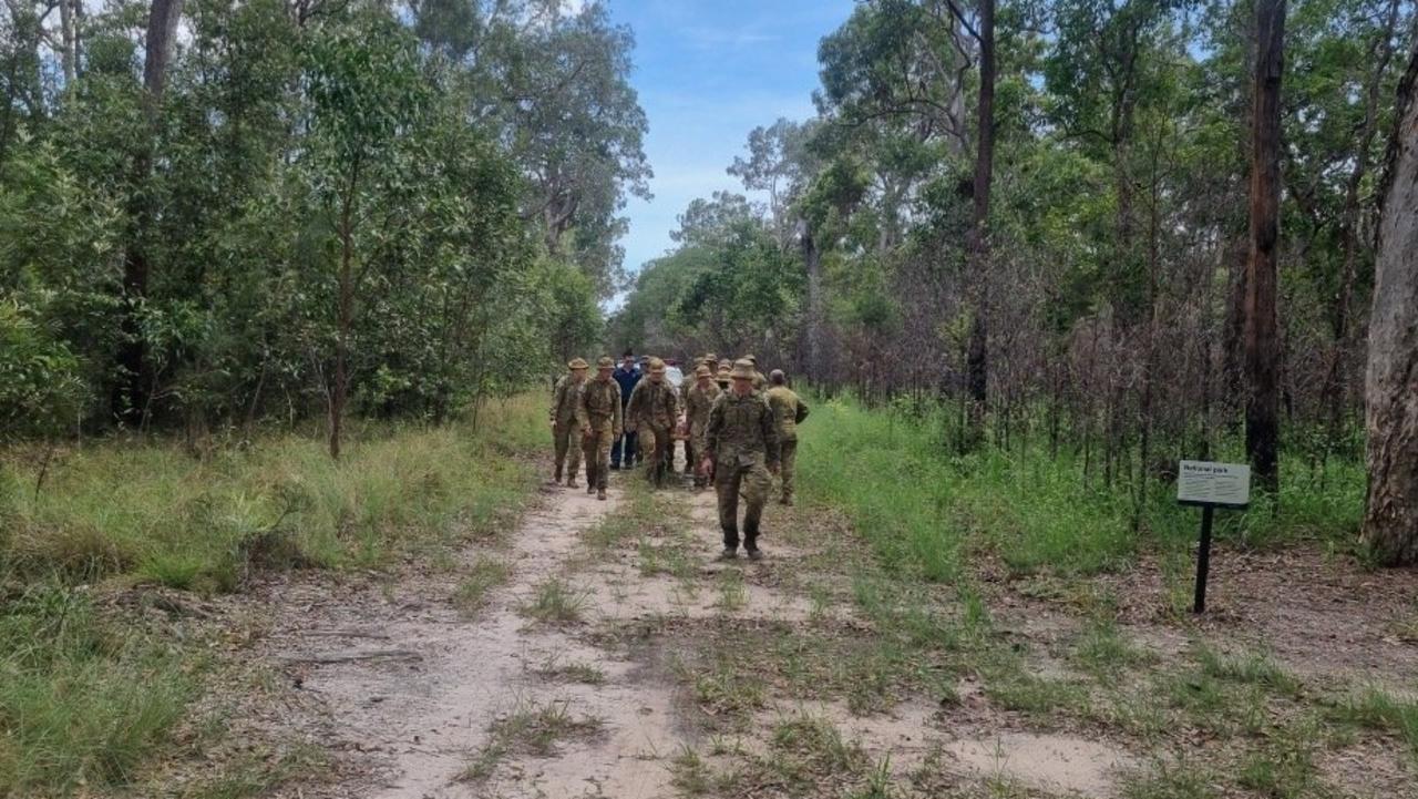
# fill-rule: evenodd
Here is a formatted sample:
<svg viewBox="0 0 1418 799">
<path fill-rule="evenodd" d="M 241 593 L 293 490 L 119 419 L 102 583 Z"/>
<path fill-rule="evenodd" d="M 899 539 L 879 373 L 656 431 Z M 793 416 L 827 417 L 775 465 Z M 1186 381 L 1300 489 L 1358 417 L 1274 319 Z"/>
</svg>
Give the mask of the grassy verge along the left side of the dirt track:
<svg viewBox="0 0 1418 799">
<path fill-rule="evenodd" d="M 200 636 L 118 610 L 118 592 L 234 592 L 258 569 L 380 568 L 493 535 L 536 484 L 515 456 L 543 443 L 543 413 L 518 397 L 476 431 L 369 426 L 339 463 L 295 434 L 201 458 L 105 441 L 58 453 L 38 491 L 38 468 L 0 453 L 0 796 L 121 789 L 207 690 Z"/>
</svg>

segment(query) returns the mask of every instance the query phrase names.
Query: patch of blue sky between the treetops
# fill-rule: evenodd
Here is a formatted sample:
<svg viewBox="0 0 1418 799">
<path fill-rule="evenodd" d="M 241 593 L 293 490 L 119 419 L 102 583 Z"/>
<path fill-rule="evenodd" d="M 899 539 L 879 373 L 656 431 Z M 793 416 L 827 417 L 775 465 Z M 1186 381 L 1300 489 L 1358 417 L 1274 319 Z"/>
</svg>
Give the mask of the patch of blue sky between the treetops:
<svg viewBox="0 0 1418 799">
<path fill-rule="evenodd" d="M 675 216 L 715 190 L 743 192 L 725 173 L 749 131 L 813 115 L 817 43 L 854 0 L 610 0 L 635 31 L 631 82 L 649 116 L 645 153 L 655 199 L 632 199 L 625 268 L 671 247 Z"/>
</svg>

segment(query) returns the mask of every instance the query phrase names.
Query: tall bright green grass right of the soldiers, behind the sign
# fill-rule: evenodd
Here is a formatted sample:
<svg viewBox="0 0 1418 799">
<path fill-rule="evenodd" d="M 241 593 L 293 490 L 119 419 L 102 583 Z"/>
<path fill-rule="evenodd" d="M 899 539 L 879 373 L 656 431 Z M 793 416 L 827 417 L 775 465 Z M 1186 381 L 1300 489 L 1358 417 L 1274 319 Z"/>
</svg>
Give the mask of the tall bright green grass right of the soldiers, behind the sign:
<svg viewBox="0 0 1418 799">
<path fill-rule="evenodd" d="M 986 447 L 957 454 L 946 409 L 868 410 L 851 397 L 814 404 L 798 437 L 798 473 L 810 501 L 842 509 L 889 571 L 954 582 L 974 551 L 1015 575 L 1086 576 L 1129 566 L 1144 548 L 1184 551 L 1195 509 L 1178 507 L 1161 481 L 1133 531 L 1134 487 L 1085 477 L 1071 450 Z M 1218 460 L 1241 458 L 1228 441 Z M 1180 453 L 1178 453 L 1180 454 Z M 1249 545 L 1296 541 L 1347 545 L 1363 517 L 1364 470 L 1333 461 L 1323 475 L 1282 460 L 1279 512 L 1258 498 L 1248 512 L 1221 514 L 1217 535 Z"/>
</svg>

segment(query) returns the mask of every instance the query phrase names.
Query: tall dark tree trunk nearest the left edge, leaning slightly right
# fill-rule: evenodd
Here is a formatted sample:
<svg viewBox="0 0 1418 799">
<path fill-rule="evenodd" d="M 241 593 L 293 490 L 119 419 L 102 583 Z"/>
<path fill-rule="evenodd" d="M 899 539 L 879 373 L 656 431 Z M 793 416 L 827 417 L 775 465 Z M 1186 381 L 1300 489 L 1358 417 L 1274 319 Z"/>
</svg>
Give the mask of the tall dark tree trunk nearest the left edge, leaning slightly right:
<svg viewBox="0 0 1418 799">
<path fill-rule="evenodd" d="M 153 148 L 157 139 L 159 109 L 163 87 L 167 81 L 167 61 L 182 17 L 183 0 L 153 0 L 147 14 L 146 55 L 143 60 L 143 116 L 145 139 L 138 143 L 133 156 L 133 197 L 129 204 L 129 241 L 123 258 L 123 319 L 121 322 L 123 341 L 118 349 L 119 382 L 111 397 L 113 417 L 129 424 L 142 426 L 143 412 L 149 407 L 147 390 L 153 382 L 146 342 L 142 335 L 139 314 L 147 298 L 147 243 L 153 227 L 152 173 Z"/>
</svg>

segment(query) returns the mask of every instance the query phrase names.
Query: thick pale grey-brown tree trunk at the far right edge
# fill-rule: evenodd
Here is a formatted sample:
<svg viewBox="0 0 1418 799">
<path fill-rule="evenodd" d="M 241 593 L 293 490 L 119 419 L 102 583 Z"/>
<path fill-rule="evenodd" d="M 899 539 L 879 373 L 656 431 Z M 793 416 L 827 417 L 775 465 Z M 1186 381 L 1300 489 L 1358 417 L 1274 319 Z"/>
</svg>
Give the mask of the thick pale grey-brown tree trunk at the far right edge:
<svg viewBox="0 0 1418 799">
<path fill-rule="evenodd" d="M 1368 324 L 1364 541 L 1388 565 L 1418 563 L 1418 45 L 1398 89 Z"/>
</svg>

